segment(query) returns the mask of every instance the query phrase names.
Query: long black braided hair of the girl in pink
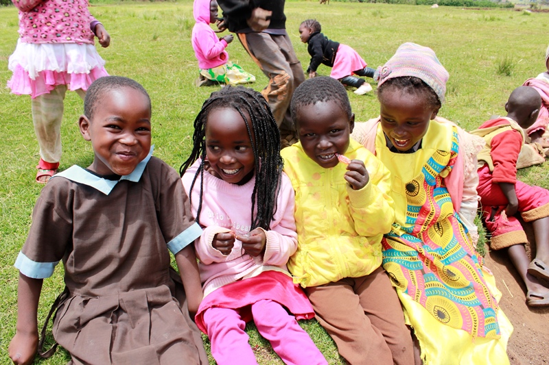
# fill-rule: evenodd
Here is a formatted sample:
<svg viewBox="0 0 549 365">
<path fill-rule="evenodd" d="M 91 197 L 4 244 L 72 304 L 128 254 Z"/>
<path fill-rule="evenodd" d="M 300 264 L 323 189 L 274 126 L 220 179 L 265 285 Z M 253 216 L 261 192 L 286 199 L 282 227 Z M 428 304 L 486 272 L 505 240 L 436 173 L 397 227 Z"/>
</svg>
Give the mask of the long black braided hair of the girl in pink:
<svg viewBox="0 0 549 365">
<path fill-rule="evenodd" d="M 248 130 L 248 137 L 252 142 L 255 160 L 255 184 L 252 193 L 250 230 L 257 227 L 268 230 L 270 229 L 272 217 L 277 211 L 277 196 L 280 189 L 279 183 L 283 160 L 280 156 L 280 133 L 277 122 L 272 116 L 268 103 L 259 92 L 243 86 L 226 86 L 211 93 L 209 99 L 202 104 L 202 110 L 194 120 L 193 149 L 189 158 L 183 162 L 179 169 L 180 176 L 183 177 L 187 168 L 200 158 L 200 166 L 189 189 L 192 192 L 196 180 L 200 176 L 200 201 L 196 212 L 196 221 L 200 223 L 206 160 L 207 118 L 212 110 L 225 108 L 234 109 L 242 116 Z M 246 114 L 249 116 L 251 125 L 248 123 Z M 252 131 L 255 138 L 252 136 Z M 189 199 L 192 199 L 190 192 Z"/>
</svg>

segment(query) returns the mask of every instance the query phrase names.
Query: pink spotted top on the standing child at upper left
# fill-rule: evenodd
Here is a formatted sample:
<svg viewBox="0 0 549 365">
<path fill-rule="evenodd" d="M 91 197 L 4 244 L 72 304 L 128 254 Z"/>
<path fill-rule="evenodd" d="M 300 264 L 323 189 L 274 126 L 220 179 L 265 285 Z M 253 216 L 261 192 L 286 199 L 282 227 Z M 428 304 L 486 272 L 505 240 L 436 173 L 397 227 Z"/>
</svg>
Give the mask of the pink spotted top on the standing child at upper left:
<svg viewBox="0 0 549 365">
<path fill-rule="evenodd" d="M 25 43 L 88 43 L 98 23 L 87 0 L 12 0 L 19 9 L 19 36 Z"/>
</svg>

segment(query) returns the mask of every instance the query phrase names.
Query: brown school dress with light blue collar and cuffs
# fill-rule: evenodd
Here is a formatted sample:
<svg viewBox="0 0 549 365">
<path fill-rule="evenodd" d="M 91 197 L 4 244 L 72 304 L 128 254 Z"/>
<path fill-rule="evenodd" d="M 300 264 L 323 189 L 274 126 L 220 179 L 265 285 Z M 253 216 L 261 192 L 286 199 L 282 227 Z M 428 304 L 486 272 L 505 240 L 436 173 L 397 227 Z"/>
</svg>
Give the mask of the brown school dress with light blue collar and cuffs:
<svg viewBox="0 0 549 365">
<path fill-rule="evenodd" d="M 53 332 L 69 364 L 208 363 L 183 290 L 176 299 L 168 253 L 202 230 L 177 173 L 149 158 L 119 181 L 73 166 L 34 208 L 16 267 L 49 277 L 63 260 L 69 297 Z"/>
</svg>

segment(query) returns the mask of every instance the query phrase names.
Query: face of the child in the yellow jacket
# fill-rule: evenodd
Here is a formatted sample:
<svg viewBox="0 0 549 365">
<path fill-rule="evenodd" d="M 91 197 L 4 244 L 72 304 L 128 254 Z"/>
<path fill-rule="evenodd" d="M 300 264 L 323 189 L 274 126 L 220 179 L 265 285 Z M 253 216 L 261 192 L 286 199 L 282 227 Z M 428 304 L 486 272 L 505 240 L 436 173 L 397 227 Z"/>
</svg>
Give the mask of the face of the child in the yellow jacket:
<svg viewBox="0 0 549 365">
<path fill-rule="evenodd" d="M 335 101 L 319 101 L 299 108 L 296 123 L 303 151 L 321 167 L 331 168 L 339 162 L 336 153 L 349 148 L 355 116 L 349 118 Z"/>
</svg>

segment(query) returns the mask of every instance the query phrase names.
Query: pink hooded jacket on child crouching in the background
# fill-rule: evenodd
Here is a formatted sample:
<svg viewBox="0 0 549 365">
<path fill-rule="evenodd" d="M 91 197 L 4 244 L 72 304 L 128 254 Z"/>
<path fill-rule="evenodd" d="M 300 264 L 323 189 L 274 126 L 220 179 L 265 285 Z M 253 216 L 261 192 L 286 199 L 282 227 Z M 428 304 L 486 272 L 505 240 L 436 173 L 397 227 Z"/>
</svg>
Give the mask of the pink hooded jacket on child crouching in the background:
<svg viewBox="0 0 549 365">
<path fill-rule="evenodd" d="M 193 15 L 196 23 L 191 42 L 198 67 L 207 70 L 226 64 L 229 61 L 229 53 L 225 51 L 227 42 L 219 40 L 210 27 L 210 1 L 194 0 Z"/>
</svg>

